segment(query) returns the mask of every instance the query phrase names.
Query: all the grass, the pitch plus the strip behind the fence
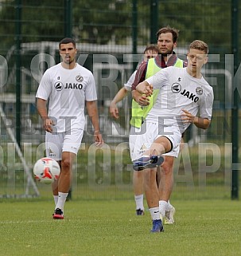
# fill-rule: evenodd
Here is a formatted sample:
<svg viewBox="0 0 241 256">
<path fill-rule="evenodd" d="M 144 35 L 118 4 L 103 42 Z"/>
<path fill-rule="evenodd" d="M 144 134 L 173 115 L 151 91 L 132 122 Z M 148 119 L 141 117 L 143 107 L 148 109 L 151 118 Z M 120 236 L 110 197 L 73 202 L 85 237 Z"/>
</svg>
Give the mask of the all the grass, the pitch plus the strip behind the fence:
<svg viewBox="0 0 241 256">
<path fill-rule="evenodd" d="M 134 215 L 129 153 L 118 161 L 112 151 L 111 160 L 84 151 L 64 220 L 52 219 L 50 186 L 37 184 L 41 198 L 0 199 L 0 256 L 241 255 L 240 202 L 230 200 L 229 162 L 211 154 L 202 164 L 199 148 L 183 152 L 174 168 L 176 223 L 164 233 L 150 233 L 147 209 Z M 0 195 L 25 193 L 23 171 L 9 169 L 0 171 Z"/>
</svg>

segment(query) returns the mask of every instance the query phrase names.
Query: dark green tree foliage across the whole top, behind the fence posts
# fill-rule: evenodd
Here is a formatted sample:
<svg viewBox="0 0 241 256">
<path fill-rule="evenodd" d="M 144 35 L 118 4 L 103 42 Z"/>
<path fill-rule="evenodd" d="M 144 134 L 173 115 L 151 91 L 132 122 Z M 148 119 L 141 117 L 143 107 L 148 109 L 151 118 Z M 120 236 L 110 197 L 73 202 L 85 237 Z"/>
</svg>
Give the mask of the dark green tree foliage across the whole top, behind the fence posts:
<svg viewBox="0 0 241 256">
<path fill-rule="evenodd" d="M 64 37 L 64 0 L 21 0 L 21 40 L 59 41 Z M 96 44 L 130 43 L 132 0 L 72 0 L 72 34 L 78 41 Z M 138 44 L 150 40 L 150 2 L 138 2 Z M 2 49 L 14 44 L 16 1 L 0 2 Z M 158 26 L 180 30 L 179 44 L 200 38 L 215 49 L 231 49 L 231 0 L 162 0 Z"/>
</svg>

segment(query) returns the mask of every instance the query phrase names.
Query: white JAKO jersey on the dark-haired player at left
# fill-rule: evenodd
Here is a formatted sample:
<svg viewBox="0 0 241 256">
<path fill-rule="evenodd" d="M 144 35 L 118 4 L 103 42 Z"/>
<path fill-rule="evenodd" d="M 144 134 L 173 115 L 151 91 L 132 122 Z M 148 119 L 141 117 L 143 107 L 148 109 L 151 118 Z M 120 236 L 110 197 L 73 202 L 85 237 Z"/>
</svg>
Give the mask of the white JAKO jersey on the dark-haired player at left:
<svg viewBox="0 0 241 256">
<path fill-rule="evenodd" d="M 93 74 L 79 64 L 74 69 L 54 65 L 44 73 L 36 97 L 49 99 L 48 116 L 55 123 L 54 132 L 84 129 L 85 100 L 97 100 Z"/>
</svg>

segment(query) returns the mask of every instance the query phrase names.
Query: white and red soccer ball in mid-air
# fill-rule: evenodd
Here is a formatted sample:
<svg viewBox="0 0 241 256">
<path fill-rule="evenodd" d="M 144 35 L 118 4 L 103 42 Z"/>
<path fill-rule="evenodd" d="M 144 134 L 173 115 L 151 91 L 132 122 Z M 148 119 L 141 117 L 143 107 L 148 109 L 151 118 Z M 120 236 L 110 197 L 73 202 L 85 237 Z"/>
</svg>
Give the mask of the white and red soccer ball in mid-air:
<svg viewBox="0 0 241 256">
<path fill-rule="evenodd" d="M 45 184 L 51 184 L 60 175 L 60 165 L 49 157 L 43 157 L 34 164 L 33 167 L 34 178 Z"/>
</svg>

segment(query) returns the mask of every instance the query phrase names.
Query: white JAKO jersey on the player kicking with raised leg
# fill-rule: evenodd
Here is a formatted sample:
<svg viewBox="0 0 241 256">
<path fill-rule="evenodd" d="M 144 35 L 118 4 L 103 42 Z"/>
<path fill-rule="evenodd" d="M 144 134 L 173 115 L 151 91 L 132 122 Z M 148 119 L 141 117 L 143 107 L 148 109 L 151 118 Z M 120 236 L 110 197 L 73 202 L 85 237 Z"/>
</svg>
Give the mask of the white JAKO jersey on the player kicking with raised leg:
<svg viewBox="0 0 241 256">
<path fill-rule="evenodd" d="M 189 123 L 182 122 L 182 109 L 191 112 L 193 116 L 199 112 L 200 117 L 211 119 L 213 90 L 204 77 L 197 79 L 189 75 L 187 68 L 172 66 L 161 69 L 146 81 L 153 85 L 154 89 L 160 89 L 146 121 L 178 126 L 183 133 Z"/>
</svg>

